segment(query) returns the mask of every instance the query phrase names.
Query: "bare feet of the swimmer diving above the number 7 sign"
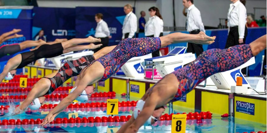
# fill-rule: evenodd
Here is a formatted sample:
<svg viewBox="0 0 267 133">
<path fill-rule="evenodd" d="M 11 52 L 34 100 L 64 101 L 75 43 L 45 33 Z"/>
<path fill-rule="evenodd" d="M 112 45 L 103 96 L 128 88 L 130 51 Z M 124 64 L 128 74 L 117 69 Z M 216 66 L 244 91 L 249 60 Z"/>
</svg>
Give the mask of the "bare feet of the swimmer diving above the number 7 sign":
<svg viewBox="0 0 267 133">
<path fill-rule="evenodd" d="M 215 39 L 216 39 L 216 36 L 213 36 L 213 37 L 209 37 L 207 36 L 204 32 L 200 32 L 197 34 L 199 36 L 199 40 L 193 40 L 193 41 L 190 41 L 191 43 L 197 43 L 197 44 L 212 44 L 214 43 Z"/>
</svg>

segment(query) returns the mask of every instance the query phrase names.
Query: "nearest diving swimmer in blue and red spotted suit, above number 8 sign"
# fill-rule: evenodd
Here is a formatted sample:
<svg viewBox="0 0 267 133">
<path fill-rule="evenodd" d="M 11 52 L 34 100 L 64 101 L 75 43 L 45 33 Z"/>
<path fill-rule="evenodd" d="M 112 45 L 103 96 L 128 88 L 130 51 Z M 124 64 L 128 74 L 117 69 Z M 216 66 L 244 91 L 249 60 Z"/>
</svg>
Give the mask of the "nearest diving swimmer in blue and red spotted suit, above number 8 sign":
<svg viewBox="0 0 267 133">
<path fill-rule="evenodd" d="M 209 76 L 239 67 L 265 48 L 266 35 L 250 44 L 237 45 L 228 49 L 214 48 L 204 51 L 195 61 L 166 75 L 148 89 L 142 99 L 139 100 L 145 101 L 141 112 L 137 116 L 131 117 L 117 133 L 138 132 L 145 121 L 150 121 L 153 124 L 164 112 L 165 109 L 164 107 L 161 108 L 162 106 L 180 100 Z M 157 114 L 158 116 L 154 116 L 153 111 L 160 113 Z"/>
</svg>

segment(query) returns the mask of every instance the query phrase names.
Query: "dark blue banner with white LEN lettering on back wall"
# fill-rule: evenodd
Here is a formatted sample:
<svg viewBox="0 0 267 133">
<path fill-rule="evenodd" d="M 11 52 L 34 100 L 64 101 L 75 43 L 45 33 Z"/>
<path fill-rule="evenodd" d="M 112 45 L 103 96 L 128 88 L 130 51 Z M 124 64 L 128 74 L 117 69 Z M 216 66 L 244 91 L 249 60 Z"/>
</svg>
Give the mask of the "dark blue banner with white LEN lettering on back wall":
<svg viewBox="0 0 267 133">
<path fill-rule="evenodd" d="M 75 8 L 34 7 L 33 12 L 32 39 L 41 29 L 47 42 L 75 38 Z"/>
</svg>

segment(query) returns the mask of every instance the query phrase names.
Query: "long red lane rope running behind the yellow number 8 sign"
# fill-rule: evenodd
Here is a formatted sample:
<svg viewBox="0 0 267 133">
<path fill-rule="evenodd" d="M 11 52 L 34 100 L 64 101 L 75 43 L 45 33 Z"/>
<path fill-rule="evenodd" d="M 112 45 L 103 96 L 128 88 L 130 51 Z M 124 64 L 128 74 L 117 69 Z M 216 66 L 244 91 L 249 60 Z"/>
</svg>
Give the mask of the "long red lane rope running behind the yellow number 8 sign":
<svg viewBox="0 0 267 133">
<path fill-rule="evenodd" d="M 201 113 L 198 113 L 198 112 L 195 112 L 197 114 L 201 114 Z M 210 113 L 209 111 L 208 112 L 204 112 L 204 113 Z M 179 113 L 177 113 L 179 114 Z M 186 114 L 186 113 L 185 113 Z M 193 114 L 193 113 L 188 113 L 187 115 L 190 115 L 190 114 Z M 173 114 L 164 114 L 160 117 L 159 121 L 169 121 L 171 120 L 171 116 Z M 209 115 L 208 115 L 209 116 Z M 130 115 L 128 116 L 109 116 L 109 117 L 106 117 L 106 116 L 102 116 L 102 117 L 83 117 L 83 118 L 80 118 L 80 117 L 77 117 L 77 118 L 56 118 L 54 121 L 50 122 L 50 124 L 68 124 L 68 123 L 105 123 L 105 122 L 125 122 L 125 121 L 128 121 L 129 119 L 131 118 Z M 201 116 L 202 119 L 204 119 L 203 116 Z M 164 119 L 164 120 L 163 120 Z M 206 117 L 206 119 L 211 119 L 211 118 L 208 118 Z M 187 120 L 191 120 L 190 119 L 187 119 Z M 43 119 L 23 119 L 23 120 L 20 120 L 20 119 L 4 119 L 2 121 L 0 121 L 1 125 L 28 125 L 28 124 L 41 124 L 43 121 Z M 158 121 L 157 121 L 158 122 Z"/>
</svg>

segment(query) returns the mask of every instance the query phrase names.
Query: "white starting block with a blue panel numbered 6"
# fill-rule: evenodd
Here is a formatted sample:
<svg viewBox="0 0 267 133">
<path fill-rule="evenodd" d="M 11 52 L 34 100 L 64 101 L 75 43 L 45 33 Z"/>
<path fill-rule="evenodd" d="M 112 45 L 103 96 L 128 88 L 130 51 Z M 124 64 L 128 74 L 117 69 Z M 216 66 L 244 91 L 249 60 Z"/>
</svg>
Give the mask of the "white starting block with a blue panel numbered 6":
<svg viewBox="0 0 267 133">
<path fill-rule="evenodd" d="M 236 86 L 237 77 L 243 78 L 242 86 L 251 87 L 249 83 L 247 82 L 246 78 L 244 78 L 244 75 L 242 74 L 241 69 L 248 67 L 252 64 L 255 64 L 255 57 L 252 57 L 251 59 L 249 59 L 249 61 L 247 61 L 246 63 L 242 64 L 241 66 L 235 69 L 213 74 L 212 76 L 210 76 L 210 78 L 212 79 L 216 87 L 220 89 L 230 90 L 231 86 Z"/>
</svg>

